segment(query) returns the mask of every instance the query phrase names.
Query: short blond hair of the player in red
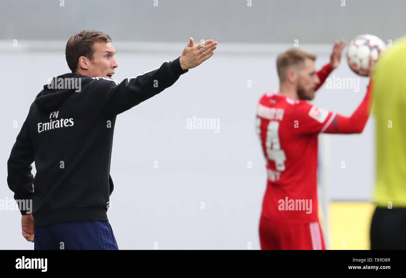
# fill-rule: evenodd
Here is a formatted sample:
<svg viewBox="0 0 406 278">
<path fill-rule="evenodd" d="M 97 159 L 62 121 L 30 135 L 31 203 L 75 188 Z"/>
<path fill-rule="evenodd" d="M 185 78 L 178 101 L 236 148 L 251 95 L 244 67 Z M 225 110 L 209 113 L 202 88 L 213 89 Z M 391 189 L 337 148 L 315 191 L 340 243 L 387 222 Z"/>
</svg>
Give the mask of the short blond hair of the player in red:
<svg viewBox="0 0 406 278">
<path fill-rule="evenodd" d="M 316 56 L 307 51 L 300 50 L 296 47 L 288 49 L 281 53 L 276 60 L 276 68 L 278 70 L 279 80 L 285 81 L 286 73 L 291 66 L 297 66 L 298 68 L 304 65 L 304 61 L 310 59 L 315 61 Z"/>
</svg>

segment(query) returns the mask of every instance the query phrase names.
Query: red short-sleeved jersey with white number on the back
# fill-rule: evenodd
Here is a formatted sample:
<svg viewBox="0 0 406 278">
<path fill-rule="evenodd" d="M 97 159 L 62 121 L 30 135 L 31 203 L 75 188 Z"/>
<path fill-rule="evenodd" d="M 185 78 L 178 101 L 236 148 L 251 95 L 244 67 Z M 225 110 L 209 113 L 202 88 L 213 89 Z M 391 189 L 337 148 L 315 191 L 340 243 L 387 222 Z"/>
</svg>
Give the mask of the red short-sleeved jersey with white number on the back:
<svg viewBox="0 0 406 278">
<path fill-rule="evenodd" d="M 283 222 L 316 222 L 317 137 L 334 112 L 268 92 L 257 110 L 257 133 L 267 161 L 262 216 Z"/>
</svg>

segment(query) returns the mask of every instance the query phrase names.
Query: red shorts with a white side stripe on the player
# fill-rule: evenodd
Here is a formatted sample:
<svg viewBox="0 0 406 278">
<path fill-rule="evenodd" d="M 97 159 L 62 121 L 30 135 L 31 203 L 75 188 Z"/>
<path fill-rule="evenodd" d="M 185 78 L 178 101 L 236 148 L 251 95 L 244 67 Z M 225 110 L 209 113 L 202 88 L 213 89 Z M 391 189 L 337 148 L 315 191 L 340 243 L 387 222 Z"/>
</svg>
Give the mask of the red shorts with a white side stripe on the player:
<svg viewBox="0 0 406 278">
<path fill-rule="evenodd" d="M 281 223 L 261 216 L 259 240 L 262 250 L 326 250 L 319 222 Z"/>
</svg>

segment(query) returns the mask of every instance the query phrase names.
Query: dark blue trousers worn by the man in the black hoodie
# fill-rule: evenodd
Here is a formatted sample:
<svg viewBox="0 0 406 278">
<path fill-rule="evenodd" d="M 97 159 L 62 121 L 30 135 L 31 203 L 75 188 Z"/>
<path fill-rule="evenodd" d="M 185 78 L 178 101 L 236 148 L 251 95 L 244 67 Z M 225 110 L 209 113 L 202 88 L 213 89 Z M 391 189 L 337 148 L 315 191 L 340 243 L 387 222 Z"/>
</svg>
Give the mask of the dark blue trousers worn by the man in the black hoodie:
<svg viewBox="0 0 406 278">
<path fill-rule="evenodd" d="M 119 250 L 108 221 L 61 222 L 35 228 L 34 250 Z"/>
</svg>

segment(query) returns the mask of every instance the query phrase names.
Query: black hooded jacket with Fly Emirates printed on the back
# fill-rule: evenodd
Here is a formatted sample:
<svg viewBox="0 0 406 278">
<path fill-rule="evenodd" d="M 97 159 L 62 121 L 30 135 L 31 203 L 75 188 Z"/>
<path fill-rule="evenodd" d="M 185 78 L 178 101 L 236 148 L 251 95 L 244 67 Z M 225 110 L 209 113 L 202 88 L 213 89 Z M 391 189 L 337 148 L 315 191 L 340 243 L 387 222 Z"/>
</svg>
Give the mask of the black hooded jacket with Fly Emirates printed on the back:
<svg viewBox="0 0 406 278">
<path fill-rule="evenodd" d="M 66 73 L 44 86 L 7 161 L 14 199 L 33 200 L 32 208 L 22 206 L 20 212 L 32 213 L 34 228 L 108 220 L 116 116 L 172 86 L 187 71 L 177 58 L 121 83 Z"/>
</svg>

